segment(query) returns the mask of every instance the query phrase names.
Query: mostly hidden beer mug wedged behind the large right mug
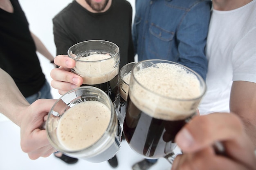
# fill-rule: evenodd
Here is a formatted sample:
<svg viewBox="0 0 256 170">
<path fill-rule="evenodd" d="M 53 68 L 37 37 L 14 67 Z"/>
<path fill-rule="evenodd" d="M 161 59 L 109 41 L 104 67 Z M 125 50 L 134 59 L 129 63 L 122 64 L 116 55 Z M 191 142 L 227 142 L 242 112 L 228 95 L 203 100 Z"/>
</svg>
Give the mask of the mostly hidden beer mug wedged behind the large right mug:
<svg viewBox="0 0 256 170">
<path fill-rule="evenodd" d="M 120 124 L 123 124 L 126 115 L 126 101 L 128 97 L 130 75 L 132 67 L 136 62 L 130 62 L 124 65 L 119 71 L 119 104 L 118 104 L 118 119 Z"/>
</svg>

